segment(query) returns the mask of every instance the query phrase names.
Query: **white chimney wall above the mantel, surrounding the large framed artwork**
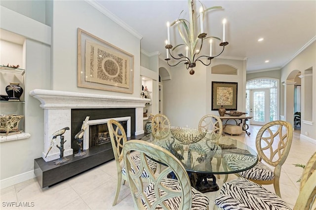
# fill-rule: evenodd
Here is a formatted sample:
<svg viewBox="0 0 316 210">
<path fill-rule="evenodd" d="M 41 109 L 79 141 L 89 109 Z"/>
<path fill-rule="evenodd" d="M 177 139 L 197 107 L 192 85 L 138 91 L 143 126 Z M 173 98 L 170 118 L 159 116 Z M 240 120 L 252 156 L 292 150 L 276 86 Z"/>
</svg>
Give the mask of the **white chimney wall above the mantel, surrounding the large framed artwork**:
<svg viewBox="0 0 316 210">
<path fill-rule="evenodd" d="M 52 89 L 139 98 L 140 39 L 127 33 L 86 1 L 54 1 L 53 6 Z M 78 28 L 134 55 L 133 94 L 77 87 Z"/>
</svg>

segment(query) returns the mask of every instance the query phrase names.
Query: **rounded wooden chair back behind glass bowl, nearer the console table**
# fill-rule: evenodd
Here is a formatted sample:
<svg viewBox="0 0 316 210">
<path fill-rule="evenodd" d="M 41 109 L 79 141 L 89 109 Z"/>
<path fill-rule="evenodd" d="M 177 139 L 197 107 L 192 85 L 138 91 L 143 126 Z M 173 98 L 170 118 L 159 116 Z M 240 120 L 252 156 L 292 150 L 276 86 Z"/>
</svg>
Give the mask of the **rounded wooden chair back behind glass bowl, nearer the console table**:
<svg viewBox="0 0 316 210">
<path fill-rule="evenodd" d="M 223 133 L 223 123 L 221 118 L 213 114 L 204 115 L 198 122 L 198 128 L 205 128 L 208 132 L 205 138 L 216 143 Z"/>
</svg>

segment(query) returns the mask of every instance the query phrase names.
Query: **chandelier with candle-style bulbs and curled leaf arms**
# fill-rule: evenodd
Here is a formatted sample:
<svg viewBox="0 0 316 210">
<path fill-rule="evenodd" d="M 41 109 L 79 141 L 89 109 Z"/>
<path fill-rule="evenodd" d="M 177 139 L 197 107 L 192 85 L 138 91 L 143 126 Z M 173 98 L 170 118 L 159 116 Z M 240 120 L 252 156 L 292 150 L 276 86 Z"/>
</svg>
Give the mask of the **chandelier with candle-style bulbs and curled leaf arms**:
<svg viewBox="0 0 316 210">
<path fill-rule="evenodd" d="M 194 70 L 193 68 L 196 67 L 196 62 L 199 61 L 201 62 L 203 65 L 205 66 L 209 66 L 211 64 L 211 60 L 217 56 L 219 56 L 220 54 L 223 53 L 224 48 L 226 45 L 228 45 L 228 42 L 225 40 L 225 25 L 226 25 L 226 19 L 223 20 L 223 40 L 222 42 L 219 44 L 220 46 L 223 46 L 223 50 L 218 54 L 213 56 L 212 55 L 212 41 L 213 39 L 218 39 L 221 40 L 218 37 L 215 36 L 208 36 L 206 37 L 206 33 L 204 33 L 203 30 L 203 18 L 204 18 L 204 13 L 211 10 L 211 9 L 220 9 L 222 8 L 221 6 L 212 6 L 209 8 L 204 7 L 203 4 L 201 4 L 200 10 L 199 10 L 199 15 L 196 17 L 194 14 L 194 4 L 193 4 L 193 0 L 188 0 L 189 2 L 189 16 L 190 16 L 190 21 L 187 21 L 186 19 L 177 19 L 175 21 L 173 21 L 173 23 L 169 24 L 169 22 L 167 22 L 167 40 L 166 40 L 166 53 L 167 53 L 167 58 L 164 59 L 167 61 L 167 64 L 171 67 L 177 66 L 178 64 L 180 64 L 181 62 L 184 62 L 184 64 L 186 65 L 187 70 L 189 68 L 191 68 L 190 70 L 190 74 L 194 74 Z M 183 12 L 183 11 L 182 11 Z M 181 12 L 181 13 L 182 13 Z M 180 13 L 180 15 L 181 15 Z M 200 31 L 199 34 L 197 35 L 197 32 L 195 32 L 195 22 L 197 22 L 197 19 L 199 19 L 199 24 L 200 24 Z M 189 24 L 189 25 L 188 25 Z M 177 46 L 173 47 L 170 44 L 170 27 L 177 25 L 178 26 L 178 30 L 179 30 L 179 35 L 181 36 L 182 40 L 184 41 L 184 44 L 178 44 Z M 204 39 L 209 38 L 209 56 L 207 55 L 199 55 L 199 53 L 201 52 L 202 46 L 203 46 L 203 41 Z M 204 42 L 205 43 L 205 42 Z M 179 57 L 174 57 L 172 55 L 172 53 L 170 52 L 170 49 L 175 50 L 177 47 L 181 46 L 181 45 L 186 45 L 186 56 L 183 55 L 179 55 Z M 190 57 L 189 57 L 189 53 L 190 53 Z M 169 58 L 169 55 L 175 59 L 175 60 L 180 60 L 178 63 L 172 65 L 169 64 L 169 61 L 171 60 Z M 207 62 L 204 63 L 201 59 L 202 58 L 207 58 Z"/>
</svg>

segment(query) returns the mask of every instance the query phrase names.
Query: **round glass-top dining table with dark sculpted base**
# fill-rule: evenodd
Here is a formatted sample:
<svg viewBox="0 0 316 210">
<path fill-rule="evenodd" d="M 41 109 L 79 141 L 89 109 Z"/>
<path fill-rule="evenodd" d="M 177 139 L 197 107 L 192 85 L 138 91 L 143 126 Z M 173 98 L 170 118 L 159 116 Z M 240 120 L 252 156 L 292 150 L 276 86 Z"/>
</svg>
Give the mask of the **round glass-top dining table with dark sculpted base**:
<svg viewBox="0 0 316 210">
<path fill-rule="evenodd" d="M 203 139 L 189 145 L 176 140 L 171 133 L 163 139 L 156 139 L 154 135 L 148 134 L 141 140 L 152 142 L 171 152 L 188 172 L 191 185 L 205 193 L 219 189 L 215 175 L 219 177 L 242 172 L 251 169 L 258 162 L 256 151 L 247 144 L 222 135 L 214 140 L 213 135 L 209 133 Z M 232 157 L 232 154 L 238 156 L 236 162 L 229 160 L 230 164 L 234 162 L 234 167 L 227 165 L 226 159 L 227 156 Z M 173 178 L 173 174 L 169 174 L 168 177 Z"/>
</svg>

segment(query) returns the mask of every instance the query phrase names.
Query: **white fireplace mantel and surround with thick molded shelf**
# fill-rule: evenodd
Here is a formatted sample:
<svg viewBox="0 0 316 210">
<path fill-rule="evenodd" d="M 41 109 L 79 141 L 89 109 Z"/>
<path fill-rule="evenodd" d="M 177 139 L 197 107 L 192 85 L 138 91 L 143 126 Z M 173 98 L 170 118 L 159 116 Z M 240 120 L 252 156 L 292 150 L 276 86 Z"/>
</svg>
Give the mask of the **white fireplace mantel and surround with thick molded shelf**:
<svg viewBox="0 0 316 210">
<path fill-rule="evenodd" d="M 89 93 L 66 92 L 55 90 L 35 89 L 30 95 L 38 99 L 40 107 L 44 109 L 44 148 L 42 158 L 48 162 L 59 158 L 60 151 L 56 144 L 52 147 L 47 157 L 46 152 L 50 146 L 51 134 L 58 129 L 69 127 L 71 129 L 71 110 L 76 108 L 135 108 L 135 134 L 141 135 L 143 129 L 143 108 L 150 99 L 109 96 Z M 71 130 L 64 134 L 64 156 L 72 155 Z"/>
</svg>

